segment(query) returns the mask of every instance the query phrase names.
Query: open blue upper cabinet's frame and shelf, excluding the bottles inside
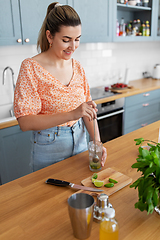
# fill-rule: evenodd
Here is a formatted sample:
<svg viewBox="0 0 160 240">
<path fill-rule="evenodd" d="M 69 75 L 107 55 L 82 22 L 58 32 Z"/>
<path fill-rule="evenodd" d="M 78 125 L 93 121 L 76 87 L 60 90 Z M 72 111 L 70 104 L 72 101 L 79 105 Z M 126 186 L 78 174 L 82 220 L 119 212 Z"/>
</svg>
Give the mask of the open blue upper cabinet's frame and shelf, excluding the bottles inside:
<svg viewBox="0 0 160 240">
<path fill-rule="evenodd" d="M 150 0 L 148 7 L 131 6 L 117 3 L 113 0 L 113 42 L 143 42 L 153 41 L 155 39 L 155 15 L 157 8 L 157 0 Z M 120 23 L 121 18 L 124 18 L 125 23 L 140 19 L 140 21 L 149 21 L 150 36 L 117 36 L 117 20 Z"/>
</svg>

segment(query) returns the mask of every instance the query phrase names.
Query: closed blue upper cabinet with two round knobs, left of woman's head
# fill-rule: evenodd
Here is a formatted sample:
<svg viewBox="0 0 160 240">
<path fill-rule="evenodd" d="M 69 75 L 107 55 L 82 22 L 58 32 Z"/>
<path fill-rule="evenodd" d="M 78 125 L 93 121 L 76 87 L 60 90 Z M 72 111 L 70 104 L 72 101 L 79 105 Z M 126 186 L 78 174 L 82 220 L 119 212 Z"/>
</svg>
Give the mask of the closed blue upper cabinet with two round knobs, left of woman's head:
<svg viewBox="0 0 160 240">
<path fill-rule="evenodd" d="M 1 0 L 0 45 L 36 44 L 51 0 Z M 67 0 L 61 0 L 67 4 Z"/>
</svg>

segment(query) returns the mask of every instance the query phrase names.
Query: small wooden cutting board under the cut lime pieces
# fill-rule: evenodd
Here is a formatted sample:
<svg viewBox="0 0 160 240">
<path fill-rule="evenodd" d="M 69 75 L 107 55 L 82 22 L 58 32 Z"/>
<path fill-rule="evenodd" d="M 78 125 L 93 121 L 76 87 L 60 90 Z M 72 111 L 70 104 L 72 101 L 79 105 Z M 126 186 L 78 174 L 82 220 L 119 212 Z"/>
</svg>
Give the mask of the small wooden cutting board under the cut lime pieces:
<svg viewBox="0 0 160 240">
<path fill-rule="evenodd" d="M 104 186 L 101 188 L 98 188 L 98 189 L 103 189 L 104 191 L 102 193 L 105 193 L 108 196 L 119 191 L 120 189 L 124 188 L 125 186 L 127 186 L 128 184 L 130 184 L 132 182 L 132 178 L 124 175 L 123 173 L 117 172 L 116 170 L 114 170 L 112 168 L 107 168 L 103 171 L 98 172 L 97 174 L 98 174 L 97 179 L 104 181 L 104 184 L 109 183 L 109 178 L 112 178 L 112 179 L 118 181 L 118 183 L 115 183 L 114 187 L 112 187 L 112 188 L 106 188 Z M 86 187 L 95 187 L 91 181 L 92 175 L 93 174 L 91 174 L 90 177 L 82 180 L 81 184 Z M 89 194 L 89 191 L 84 191 L 84 190 L 80 190 L 78 192 L 85 192 L 85 193 Z"/>
</svg>

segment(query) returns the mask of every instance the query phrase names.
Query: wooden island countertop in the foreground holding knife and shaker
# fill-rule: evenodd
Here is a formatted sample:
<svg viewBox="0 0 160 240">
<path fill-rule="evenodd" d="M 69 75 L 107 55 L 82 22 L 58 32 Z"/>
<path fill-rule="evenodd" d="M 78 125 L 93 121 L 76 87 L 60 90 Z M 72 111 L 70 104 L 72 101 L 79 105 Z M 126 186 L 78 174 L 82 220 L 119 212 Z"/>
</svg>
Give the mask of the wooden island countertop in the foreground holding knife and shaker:
<svg viewBox="0 0 160 240">
<path fill-rule="evenodd" d="M 140 173 L 131 168 L 138 155 L 138 146 L 133 140 L 144 137 L 157 141 L 159 126 L 160 121 L 105 143 L 108 159 L 103 169 L 114 168 L 135 181 Z M 0 239 L 75 239 L 67 199 L 76 191 L 47 185 L 45 181 L 57 178 L 80 184 L 92 174 L 88 167 L 88 152 L 84 152 L 0 186 Z M 119 240 L 159 239 L 160 216 L 156 212 L 147 215 L 147 212 L 135 209 L 137 199 L 137 190 L 129 186 L 109 197 L 119 222 Z M 93 222 L 88 239 L 99 239 L 98 223 Z"/>
</svg>

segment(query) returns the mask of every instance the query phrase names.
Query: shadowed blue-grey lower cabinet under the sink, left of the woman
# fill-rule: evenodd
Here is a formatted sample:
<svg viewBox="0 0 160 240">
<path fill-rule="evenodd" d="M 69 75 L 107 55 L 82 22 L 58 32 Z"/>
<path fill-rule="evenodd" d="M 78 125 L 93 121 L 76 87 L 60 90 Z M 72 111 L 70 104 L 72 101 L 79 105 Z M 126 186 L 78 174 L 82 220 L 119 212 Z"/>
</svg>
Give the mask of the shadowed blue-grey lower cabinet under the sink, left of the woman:
<svg viewBox="0 0 160 240">
<path fill-rule="evenodd" d="M 32 172 L 30 138 L 31 132 L 22 132 L 18 125 L 0 130 L 1 184 Z"/>
</svg>

